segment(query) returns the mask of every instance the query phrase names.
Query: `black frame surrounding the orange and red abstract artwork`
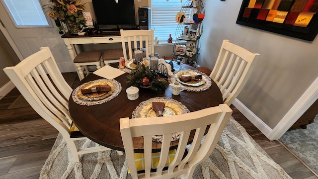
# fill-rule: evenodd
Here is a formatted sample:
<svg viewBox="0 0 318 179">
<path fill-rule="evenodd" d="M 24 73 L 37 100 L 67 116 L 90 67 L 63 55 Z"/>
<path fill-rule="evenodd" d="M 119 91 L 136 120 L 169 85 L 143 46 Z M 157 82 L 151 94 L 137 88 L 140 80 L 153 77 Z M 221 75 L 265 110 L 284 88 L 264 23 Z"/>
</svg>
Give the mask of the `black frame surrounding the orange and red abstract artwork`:
<svg viewBox="0 0 318 179">
<path fill-rule="evenodd" d="M 262 29 L 278 34 L 283 34 L 291 37 L 296 37 L 299 39 L 304 39 L 308 41 L 313 41 L 315 37 L 318 34 L 318 13 L 315 13 L 307 25 L 307 27 L 300 27 L 295 26 L 291 24 L 285 24 L 285 23 L 277 23 L 267 20 L 259 20 L 257 19 L 257 14 L 260 11 L 260 7 L 255 8 L 253 7 L 251 9 L 251 13 L 249 15 L 249 18 L 243 17 L 245 8 L 248 7 L 250 0 L 243 0 L 242 5 L 239 10 L 239 15 L 237 18 L 237 24 Z M 295 0 L 292 1 L 294 3 Z M 288 9 L 288 13 L 290 12 L 290 9 L 293 4 L 290 5 Z M 287 14 L 288 15 L 288 14 Z M 245 15 L 246 16 L 246 15 Z"/>
</svg>

